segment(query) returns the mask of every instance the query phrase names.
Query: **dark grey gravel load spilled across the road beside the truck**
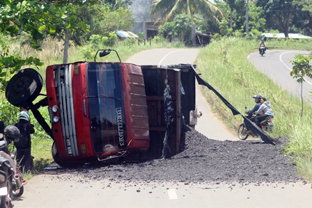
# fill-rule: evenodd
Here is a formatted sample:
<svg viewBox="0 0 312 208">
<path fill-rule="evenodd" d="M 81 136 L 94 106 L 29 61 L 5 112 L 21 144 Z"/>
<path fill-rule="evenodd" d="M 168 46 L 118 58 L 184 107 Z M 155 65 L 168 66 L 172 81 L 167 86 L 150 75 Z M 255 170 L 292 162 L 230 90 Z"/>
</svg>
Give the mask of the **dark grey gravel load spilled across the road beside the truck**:
<svg viewBox="0 0 312 208">
<path fill-rule="evenodd" d="M 211 184 L 302 181 L 290 158 L 281 152 L 285 138 L 274 138 L 279 141 L 277 145 L 259 140 L 216 141 L 187 127 L 182 136 L 184 139 L 182 151 L 169 159 L 75 169 L 57 168 L 56 171 L 77 175 L 80 181 L 104 178 L 116 182 L 139 180 Z"/>
</svg>

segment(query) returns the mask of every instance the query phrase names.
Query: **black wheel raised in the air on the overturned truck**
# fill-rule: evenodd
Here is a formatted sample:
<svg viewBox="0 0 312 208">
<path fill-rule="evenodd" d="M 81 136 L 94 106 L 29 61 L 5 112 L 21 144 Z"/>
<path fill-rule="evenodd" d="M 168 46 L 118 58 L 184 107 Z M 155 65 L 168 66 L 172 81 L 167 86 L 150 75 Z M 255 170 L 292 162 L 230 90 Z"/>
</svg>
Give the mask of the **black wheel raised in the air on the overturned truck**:
<svg viewBox="0 0 312 208">
<path fill-rule="evenodd" d="M 42 83 L 42 77 L 36 70 L 20 70 L 8 81 L 6 99 L 17 107 L 21 102 L 31 103 L 40 94 Z"/>
</svg>

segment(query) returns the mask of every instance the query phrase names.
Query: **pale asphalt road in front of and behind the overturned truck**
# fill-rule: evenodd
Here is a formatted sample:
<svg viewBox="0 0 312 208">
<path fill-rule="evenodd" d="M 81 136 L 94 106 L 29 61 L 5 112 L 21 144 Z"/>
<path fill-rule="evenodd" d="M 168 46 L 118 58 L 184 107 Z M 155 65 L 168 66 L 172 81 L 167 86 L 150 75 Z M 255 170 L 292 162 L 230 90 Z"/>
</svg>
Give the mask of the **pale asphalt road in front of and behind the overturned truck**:
<svg viewBox="0 0 312 208">
<path fill-rule="evenodd" d="M 142 51 L 127 62 L 139 65 L 193 63 L 197 49 L 155 49 Z M 269 53 L 266 54 L 266 61 Z M 256 63 L 255 63 L 256 64 Z M 272 60 L 272 63 L 274 61 Z M 198 92 L 197 92 L 198 93 Z M 198 95 L 198 94 L 196 94 Z M 197 96 L 200 97 L 200 96 Z M 199 104 L 199 102 L 198 102 Z M 220 120 L 211 131 L 217 118 L 203 102 L 204 115 L 196 129 L 208 138 L 223 140 L 231 131 Z M 211 114 L 209 114 L 211 113 Z M 207 115 L 208 118 L 204 116 Z M 218 120 L 218 118 L 217 118 Z M 204 122 L 203 122 L 204 121 Z M 199 125 L 202 123 L 203 125 Z M 208 122 L 207 122 L 208 123 Z M 217 134 L 210 134 L 217 131 Z M 226 133 L 227 132 L 227 133 Z M 215 132 L 214 132 L 215 133 Z M 235 139 L 235 135 L 233 135 Z M 72 178 L 70 174 L 40 174 L 29 180 L 24 195 L 14 202 L 15 207 L 311 207 L 311 184 L 248 184 L 245 186 L 223 184 L 188 183 L 116 183 L 94 178 L 91 182 Z"/>
</svg>

